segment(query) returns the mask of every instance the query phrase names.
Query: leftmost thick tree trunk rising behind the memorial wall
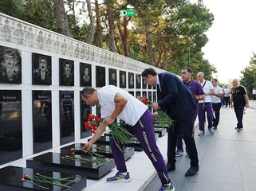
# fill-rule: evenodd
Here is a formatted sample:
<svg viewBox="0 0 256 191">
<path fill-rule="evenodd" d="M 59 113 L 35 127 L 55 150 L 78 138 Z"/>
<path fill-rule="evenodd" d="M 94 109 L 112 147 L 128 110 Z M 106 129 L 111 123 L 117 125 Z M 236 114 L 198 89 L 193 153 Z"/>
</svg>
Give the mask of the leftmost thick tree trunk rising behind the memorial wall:
<svg viewBox="0 0 256 191">
<path fill-rule="evenodd" d="M 54 10 L 57 18 L 58 33 L 68 37 L 73 37 L 73 33 L 69 27 L 69 20 L 65 13 L 65 7 L 62 0 L 54 0 Z"/>
</svg>

